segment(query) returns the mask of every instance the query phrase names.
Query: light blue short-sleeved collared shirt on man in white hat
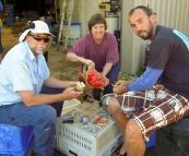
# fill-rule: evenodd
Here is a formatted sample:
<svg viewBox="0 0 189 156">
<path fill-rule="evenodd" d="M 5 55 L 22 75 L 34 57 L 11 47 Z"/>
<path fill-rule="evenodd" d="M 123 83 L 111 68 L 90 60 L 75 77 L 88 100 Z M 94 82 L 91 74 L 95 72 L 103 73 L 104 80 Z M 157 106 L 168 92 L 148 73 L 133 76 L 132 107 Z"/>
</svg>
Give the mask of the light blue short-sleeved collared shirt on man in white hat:
<svg viewBox="0 0 189 156">
<path fill-rule="evenodd" d="M 17 91 L 38 94 L 49 75 L 43 53 L 35 58 L 26 41 L 17 44 L 0 64 L 0 106 L 22 101 Z"/>
</svg>

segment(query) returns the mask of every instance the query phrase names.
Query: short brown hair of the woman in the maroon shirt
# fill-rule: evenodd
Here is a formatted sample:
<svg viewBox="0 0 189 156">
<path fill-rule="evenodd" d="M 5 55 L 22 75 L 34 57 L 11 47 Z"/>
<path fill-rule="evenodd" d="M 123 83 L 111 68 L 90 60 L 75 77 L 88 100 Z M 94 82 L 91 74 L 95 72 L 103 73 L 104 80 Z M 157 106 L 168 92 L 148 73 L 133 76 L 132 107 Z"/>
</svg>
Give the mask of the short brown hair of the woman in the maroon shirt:
<svg viewBox="0 0 189 156">
<path fill-rule="evenodd" d="M 107 29 L 107 23 L 106 23 L 106 19 L 103 14 L 101 13 L 96 13 L 94 15 L 92 15 L 92 17 L 88 21 L 88 31 L 92 31 L 92 27 L 95 24 L 104 24 L 105 25 L 105 29 Z"/>
</svg>

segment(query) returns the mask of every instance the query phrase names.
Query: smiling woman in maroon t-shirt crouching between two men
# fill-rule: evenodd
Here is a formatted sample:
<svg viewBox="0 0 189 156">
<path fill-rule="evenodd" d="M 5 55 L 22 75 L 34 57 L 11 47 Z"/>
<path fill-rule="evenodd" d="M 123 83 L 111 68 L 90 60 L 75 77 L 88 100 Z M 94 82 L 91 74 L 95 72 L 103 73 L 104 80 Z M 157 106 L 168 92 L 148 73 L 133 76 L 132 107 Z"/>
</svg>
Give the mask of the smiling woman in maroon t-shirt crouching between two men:
<svg viewBox="0 0 189 156">
<path fill-rule="evenodd" d="M 113 93 L 120 72 L 118 43 L 114 34 L 106 32 L 107 23 L 105 17 L 96 13 L 88 22 L 90 33 L 80 38 L 70 49 L 67 59 L 72 62 L 93 65 L 107 80 L 107 85 L 103 91 L 104 95 Z M 93 97 L 101 99 L 101 89 L 93 89 Z"/>
</svg>

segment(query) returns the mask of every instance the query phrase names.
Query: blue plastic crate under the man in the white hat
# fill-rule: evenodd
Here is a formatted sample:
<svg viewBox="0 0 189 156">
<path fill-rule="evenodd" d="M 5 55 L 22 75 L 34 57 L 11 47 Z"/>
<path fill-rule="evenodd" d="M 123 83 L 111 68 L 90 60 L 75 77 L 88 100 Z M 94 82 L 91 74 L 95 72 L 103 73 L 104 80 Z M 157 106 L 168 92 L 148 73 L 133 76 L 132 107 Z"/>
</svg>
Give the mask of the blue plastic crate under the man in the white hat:
<svg viewBox="0 0 189 156">
<path fill-rule="evenodd" d="M 0 156 L 27 156 L 33 140 L 32 127 L 0 124 Z"/>
</svg>

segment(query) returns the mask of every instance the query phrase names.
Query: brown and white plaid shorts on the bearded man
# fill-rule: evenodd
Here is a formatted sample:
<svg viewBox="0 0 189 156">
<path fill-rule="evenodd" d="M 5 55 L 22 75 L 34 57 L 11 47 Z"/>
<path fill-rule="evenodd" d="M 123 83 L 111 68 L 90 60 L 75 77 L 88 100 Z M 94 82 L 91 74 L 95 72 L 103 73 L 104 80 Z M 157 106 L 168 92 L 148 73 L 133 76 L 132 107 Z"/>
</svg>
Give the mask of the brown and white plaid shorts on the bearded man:
<svg viewBox="0 0 189 156">
<path fill-rule="evenodd" d="M 189 115 L 188 99 L 160 84 L 145 92 L 128 92 L 116 98 L 128 117 L 133 115 L 145 142 L 154 130 Z"/>
</svg>

